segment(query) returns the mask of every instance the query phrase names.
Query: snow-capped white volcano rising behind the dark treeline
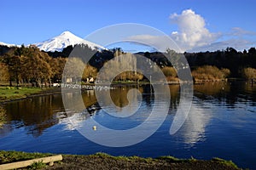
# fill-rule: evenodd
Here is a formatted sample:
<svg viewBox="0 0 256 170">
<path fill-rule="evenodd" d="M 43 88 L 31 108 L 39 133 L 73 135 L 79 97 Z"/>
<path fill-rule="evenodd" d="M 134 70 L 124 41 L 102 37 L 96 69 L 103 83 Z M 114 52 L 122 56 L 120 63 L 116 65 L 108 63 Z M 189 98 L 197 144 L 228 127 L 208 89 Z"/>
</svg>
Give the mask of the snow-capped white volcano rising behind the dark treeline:
<svg viewBox="0 0 256 170">
<path fill-rule="evenodd" d="M 75 44 L 87 44 L 90 48 L 101 48 L 105 49 L 104 47 L 94 43 L 84 40 L 83 38 L 77 37 L 73 35 L 70 31 L 64 31 L 61 33 L 61 35 L 57 37 L 50 38 L 49 40 L 46 40 L 44 42 L 38 42 L 35 43 L 38 48 L 44 51 L 62 51 L 63 48 L 66 48 L 69 45 L 75 45 Z"/>
</svg>

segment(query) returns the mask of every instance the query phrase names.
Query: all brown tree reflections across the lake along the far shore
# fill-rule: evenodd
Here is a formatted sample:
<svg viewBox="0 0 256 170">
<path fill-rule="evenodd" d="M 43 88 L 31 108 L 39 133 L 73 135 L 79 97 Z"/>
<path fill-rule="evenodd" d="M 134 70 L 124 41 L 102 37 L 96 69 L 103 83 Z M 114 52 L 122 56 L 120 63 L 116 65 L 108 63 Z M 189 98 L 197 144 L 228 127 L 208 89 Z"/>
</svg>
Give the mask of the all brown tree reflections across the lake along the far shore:
<svg viewBox="0 0 256 170">
<path fill-rule="evenodd" d="M 144 105 L 149 110 L 152 109 L 155 96 L 154 89 L 150 88 L 150 85 L 121 86 L 110 90 L 102 90 L 101 93 L 109 93 L 110 91 L 113 104 L 124 107 L 128 105 L 127 93 L 131 88 L 138 88 L 142 93 Z M 179 85 L 170 85 L 169 88 L 171 93 L 170 109 L 176 110 L 180 102 L 180 87 Z M 200 99 L 197 102 L 204 103 L 205 101 L 210 101 L 211 103 L 214 102 L 218 105 L 234 108 L 241 101 L 244 103 L 253 101 L 247 102 L 247 105 L 256 106 L 256 96 L 253 95 L 256 93 L 256 85 L 252 86 L 248 82 L 231 82 L 231 84 L 230 82 L 208 82 L 202 85 L 195 85 L 194 88 L 195 98 Z M 160 91 L 160 93 L 162 93 L 160 98 L 165 101 L 167 99 L 165 92 Z M 89 115 L 95 114 L 95 111 L 100 109 L 99 105 L 97 105 L 95 91 L 93 90 L 82 91 L 82 103 L 78 102 L 79 98 L 81 99 L 79 93 L 67 93 L 67 98 L 71 99 L 70 105 L 81 108 L 81 111 L 85 109 L 85 105 Z M 137 94 L 131 94 L 131 99 L 137 101 Z M 106 100 L 104 102 L 108 105 L 110 101 Z M 3 129 L 0 131 L 2 135 L 11 132 L 14 128 L 24 127 L 28 133 L 32 133 L 35 137 L 41 135 L 44 129 L 78 113 L 73 112 L 69 114 L 64 111 L 61 94 L 45 95 L 12 102 L 6 105 L 5 109 L 7 111 L 6 126 L 3 126 Z"/>
</svg>

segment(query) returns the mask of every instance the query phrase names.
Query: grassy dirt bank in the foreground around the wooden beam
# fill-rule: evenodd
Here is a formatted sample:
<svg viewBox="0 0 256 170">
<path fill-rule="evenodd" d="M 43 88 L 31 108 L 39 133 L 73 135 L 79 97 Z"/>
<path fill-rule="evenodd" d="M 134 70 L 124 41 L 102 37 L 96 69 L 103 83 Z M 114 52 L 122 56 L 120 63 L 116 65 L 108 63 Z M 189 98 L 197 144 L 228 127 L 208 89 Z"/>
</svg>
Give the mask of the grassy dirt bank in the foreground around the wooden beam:
<svg viewBox="0 0 256 170">
<path fill-rule="evenodd" d="M 0 151 L 0 164 L 25 161 L 44 156 L 49 153 L 26 153 L 20 151 Z M 232 161 L 213 158 L 209 161 L 193 159 L 177 159 L 172 156 L 158 158 L 142 158 L 138 156 L 109 156 L 96 153 L 90 156 L 62 155 L 63 160 L 55 162 L 53 167 L 42 162 L 35 162 L 26 169 L 239 169 Z"/>
</svg>

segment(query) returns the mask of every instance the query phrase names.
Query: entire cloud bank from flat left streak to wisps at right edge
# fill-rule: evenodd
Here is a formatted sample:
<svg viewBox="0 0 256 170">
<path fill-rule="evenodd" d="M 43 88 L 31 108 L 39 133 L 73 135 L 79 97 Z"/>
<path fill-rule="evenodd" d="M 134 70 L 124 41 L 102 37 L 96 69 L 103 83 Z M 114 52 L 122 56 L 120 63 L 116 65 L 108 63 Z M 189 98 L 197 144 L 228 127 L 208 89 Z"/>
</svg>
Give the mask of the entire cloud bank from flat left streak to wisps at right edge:
<svg viewBox="0 0 256 170">
<path fill-rule="evenodd" d="M 148 45 L 160 47 L 160 51 L 172 48 L 177 52 L 216 51 L 228 47 L 243 50 L 256 46 L 255 31 L 246 31 L 241 27 L 233 27 L 229 32 L 225 33 L 211 32 L 206 27 L 205 19 L 192 9 L 183 10 L 181 14 L 171 14 L 170 20 L 178 28 L 177 31 L 172 31 L 170 35 L 174 41 L 171 47 L 167 47 L 167 39 L 160 36 L 137 35 L 129 37 L 129 39 L 137 42 L 146 41 Z M 177 47 L 175 43 L 181 50 L 173 48 Z"/>
</svg>

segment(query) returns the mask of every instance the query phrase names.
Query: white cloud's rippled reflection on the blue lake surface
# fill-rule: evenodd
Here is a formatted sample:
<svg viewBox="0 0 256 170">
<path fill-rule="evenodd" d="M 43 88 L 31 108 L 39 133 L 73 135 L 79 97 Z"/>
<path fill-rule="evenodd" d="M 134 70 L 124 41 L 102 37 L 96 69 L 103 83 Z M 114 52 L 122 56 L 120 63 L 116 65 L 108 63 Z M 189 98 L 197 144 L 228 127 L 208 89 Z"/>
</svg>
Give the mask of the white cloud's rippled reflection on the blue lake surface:
<svg viewBox="0 0 256 170">
<path fill-rule="evenodd" d="M 189 144 L 189 147 L 203 141 L 206 136 L 207 123 L 211 118 L 210 109 L 192 105 L 183 127 L 177 132 L 177 137 L 181 138 L 183 143 Z"/>
</svg>

